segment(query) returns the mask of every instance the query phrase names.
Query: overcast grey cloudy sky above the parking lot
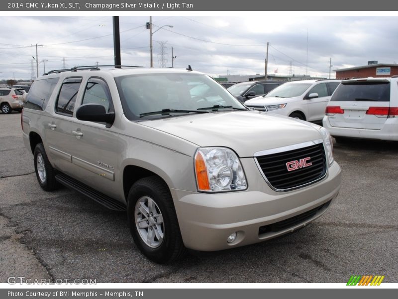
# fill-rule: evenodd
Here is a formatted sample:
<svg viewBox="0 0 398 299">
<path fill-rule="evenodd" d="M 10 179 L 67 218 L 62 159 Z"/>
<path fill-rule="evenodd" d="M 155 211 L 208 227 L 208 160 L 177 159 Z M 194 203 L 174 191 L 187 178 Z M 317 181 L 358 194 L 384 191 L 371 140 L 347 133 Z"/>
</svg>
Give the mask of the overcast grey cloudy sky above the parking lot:
<svg viewBox="0 0 398 299">
<path fill-rule="evenodd" d="M 149 67 L 149 16 L 120 16 L 121 62 Z M 268 73 L 329 77 L 332 70 L 398 62 L 398 16 L 153 16 L 154 66 L 166 42 L 166 66 L 188 64 L 212 76 Z M 114 64 L 111 16 L 0 17 L 0 79 L 30 79 L 32 56 L 46 71 Z M 36 62 L 34 62 L 36 74 Z M 291 66 L 290 66 L 291 65 Z M 44 63 L 39 64 L 39 75 Z M 332 71 L 331 77 L 335 73 Z"/>
</svg>

